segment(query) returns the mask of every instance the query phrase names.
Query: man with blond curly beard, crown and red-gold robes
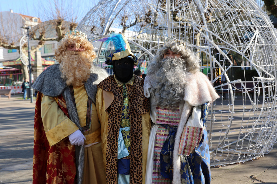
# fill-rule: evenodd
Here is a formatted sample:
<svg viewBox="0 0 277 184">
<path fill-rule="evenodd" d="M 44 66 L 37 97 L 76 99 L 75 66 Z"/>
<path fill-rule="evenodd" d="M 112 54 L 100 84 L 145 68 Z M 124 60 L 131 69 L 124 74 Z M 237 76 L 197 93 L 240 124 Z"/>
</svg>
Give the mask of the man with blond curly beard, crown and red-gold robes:
<svg viewBox="0 0 277 184">
<path fill-rule="evenodd" d="M 34 82 L 33 183 L 106 183 L 95 95 L 108 74 L 92 63 L 93 48 L 84 33 L 68 32 L 58 64 Z"/>
</svg>

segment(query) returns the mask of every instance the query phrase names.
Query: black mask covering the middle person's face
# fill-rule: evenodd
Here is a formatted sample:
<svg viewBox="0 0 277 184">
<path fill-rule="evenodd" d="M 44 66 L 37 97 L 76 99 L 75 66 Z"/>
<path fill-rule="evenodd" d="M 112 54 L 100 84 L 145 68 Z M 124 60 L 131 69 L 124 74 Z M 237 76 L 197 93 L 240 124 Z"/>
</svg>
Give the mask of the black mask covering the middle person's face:
<svg viewBox="0 0 277 184">
<path fill-rule="evenodd" d="M 133 77 L 134 62 L 130 58 L 114 60 L 113 71 L 120 82 L 128 82 Z"/>
</svg>

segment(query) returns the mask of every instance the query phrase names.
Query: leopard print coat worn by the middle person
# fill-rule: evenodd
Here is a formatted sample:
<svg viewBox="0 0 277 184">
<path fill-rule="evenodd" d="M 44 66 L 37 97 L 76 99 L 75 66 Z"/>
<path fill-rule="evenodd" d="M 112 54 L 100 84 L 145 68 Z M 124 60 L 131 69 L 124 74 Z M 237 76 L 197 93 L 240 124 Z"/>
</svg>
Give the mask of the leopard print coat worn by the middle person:
<svg viewBox="0 0 277 184">
<path fill-rule="evenodd" d="M 143 94 L 144 79 L 135 76 L 133 85 L 126 84 L 129 97 L 131 122 L 130 183 L 143 183 L 142 167 L 142 114 L 150 111 L 148 98 Z M 117 183 L 117 147 L 120 126 L 121 107 L 123 103 L 123 86 L 118 86 L 114 76 L 109 76 L 97 86 L 114 94 L 114 100 L 106 109 L 109 117 L 106 147 L 107 183 Z M 135 135 L 135 136 L 134 136 Z"/>
</svg>

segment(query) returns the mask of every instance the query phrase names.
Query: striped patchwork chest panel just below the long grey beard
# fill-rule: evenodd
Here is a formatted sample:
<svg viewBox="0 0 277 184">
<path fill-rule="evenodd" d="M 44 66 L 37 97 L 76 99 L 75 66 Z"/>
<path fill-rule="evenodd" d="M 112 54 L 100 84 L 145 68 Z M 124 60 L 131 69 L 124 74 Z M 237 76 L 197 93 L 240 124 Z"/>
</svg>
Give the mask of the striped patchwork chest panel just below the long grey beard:
<svg viewBox="0 0 277 184">
<path fill-rule="evenodd" d="M 160 107 L 156 107 L 156 118 L 157 124 L 168 124 L 173 126 L 178 126 L 180 122 L 180 110 L 179 107 L 177 110 L 173 111 L 170 109 L 162 109 Z"/>
</svg>

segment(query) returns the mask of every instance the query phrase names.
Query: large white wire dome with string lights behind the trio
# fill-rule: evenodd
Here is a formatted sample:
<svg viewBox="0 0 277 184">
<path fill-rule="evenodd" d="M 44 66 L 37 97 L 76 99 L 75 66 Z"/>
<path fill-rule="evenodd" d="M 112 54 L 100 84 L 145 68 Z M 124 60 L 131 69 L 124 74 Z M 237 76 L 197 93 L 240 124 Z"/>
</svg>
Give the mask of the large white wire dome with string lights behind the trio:
<svg viewBox="0 0 277 184">
<path fill-rule="evenodd" d="M 255 1 L 103 0 L 77 29 L 94 41 L 97 64 L 112 47 L 95 40 L 124 33 L 141 70 L 166 38 L 186 41 L 221 96 L 209 108 L 211 166 L 263 156 L 275 144 L 277 33 Z"/>
</svg>

